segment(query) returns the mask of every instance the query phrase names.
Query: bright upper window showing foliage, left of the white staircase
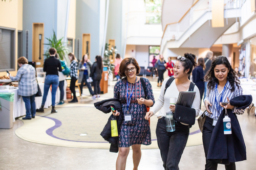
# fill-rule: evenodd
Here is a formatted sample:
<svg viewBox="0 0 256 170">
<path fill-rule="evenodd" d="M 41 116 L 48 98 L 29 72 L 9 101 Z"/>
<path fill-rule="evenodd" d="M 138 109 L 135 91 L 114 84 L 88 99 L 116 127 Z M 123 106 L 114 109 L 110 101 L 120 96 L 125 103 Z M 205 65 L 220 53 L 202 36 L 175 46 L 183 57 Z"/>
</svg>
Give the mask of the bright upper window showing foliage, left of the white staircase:
<svg viewBox="0 0 256 170">
<path fill-rule="evenodd" d="M 161 0 L 145 0 L 146 24 L 161 23 Z"/>
</svg>

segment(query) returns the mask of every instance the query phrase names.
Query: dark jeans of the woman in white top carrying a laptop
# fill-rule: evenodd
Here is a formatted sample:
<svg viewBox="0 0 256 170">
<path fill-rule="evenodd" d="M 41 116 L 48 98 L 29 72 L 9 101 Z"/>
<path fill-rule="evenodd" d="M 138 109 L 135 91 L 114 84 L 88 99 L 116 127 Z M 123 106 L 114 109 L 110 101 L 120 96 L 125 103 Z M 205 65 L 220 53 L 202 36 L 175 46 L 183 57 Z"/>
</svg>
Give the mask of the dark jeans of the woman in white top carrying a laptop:
<svg viewBox="0 0 256 170">
<path fill-rule="evenodd" d="M 165 117 L 162 117 L 158 119 L 156 134 L 164 169 L 179 169 L 180 158 L 189 135 L 189 126 L 175 122 L 175 131 L 167 132 Z"/>
</svg>

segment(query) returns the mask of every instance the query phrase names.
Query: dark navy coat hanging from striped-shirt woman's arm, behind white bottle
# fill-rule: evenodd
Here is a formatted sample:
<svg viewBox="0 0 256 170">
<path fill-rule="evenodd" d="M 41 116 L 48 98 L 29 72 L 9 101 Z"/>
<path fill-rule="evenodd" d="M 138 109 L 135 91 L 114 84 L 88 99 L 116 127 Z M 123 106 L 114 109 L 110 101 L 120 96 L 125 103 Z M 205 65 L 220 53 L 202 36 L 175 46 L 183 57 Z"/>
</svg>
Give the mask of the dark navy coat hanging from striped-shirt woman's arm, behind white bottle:
<svg viewBox="0 0 256 170">
<path fill-rule="evenodd" d="M 226 165 L 230 162 L 246 160 L 244 138 L 237 116 L 230 109 L 227 109 L 227 113 L 231 119 L 232 134 L 224 135 L 223 118 L 225 117 L 225 109 L 223 109 L 214 131 L 212 131 L 207 155 L 208 160 Z"/>
</svg>

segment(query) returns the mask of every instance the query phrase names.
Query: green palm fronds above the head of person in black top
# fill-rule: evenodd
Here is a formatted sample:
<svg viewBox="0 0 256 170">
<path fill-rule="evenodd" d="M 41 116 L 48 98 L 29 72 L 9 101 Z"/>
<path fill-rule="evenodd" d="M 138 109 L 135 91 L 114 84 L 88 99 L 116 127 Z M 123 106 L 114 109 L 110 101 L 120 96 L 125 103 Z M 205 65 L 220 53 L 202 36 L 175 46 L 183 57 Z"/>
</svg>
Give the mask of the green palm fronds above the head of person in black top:
<svg viewBox="0 0 256 170">
<path fill-rule="evenodd" d="M 64 42 L 62 41 L 63 40 L 63 37 L 58 39 L 57 40 L 57 37 L 56 37 L 56 34 L 55 32 L 53 31 L 53 36 L 51 36 L 51 38 L 46 38 L 49 42 L 48 43 L 45 43 L 45 45 L 49 45 L 48 48 L 47 48 L 47 51 L 45 52 L 44 56 L 46 56 L 46 58 L 50 57 L 50 54 L 49 54 L 49 49 L 51 47 L 54 47 L 56 50 L 57 50 L 57 53 L 59 55 L 59 58 L 60 60 L 67 60 L 66 59 L 66 55 L 68 54 L 69 52 L 69 48 L 67 48 L 65 45 L 64 45 Z"/>
</svg>

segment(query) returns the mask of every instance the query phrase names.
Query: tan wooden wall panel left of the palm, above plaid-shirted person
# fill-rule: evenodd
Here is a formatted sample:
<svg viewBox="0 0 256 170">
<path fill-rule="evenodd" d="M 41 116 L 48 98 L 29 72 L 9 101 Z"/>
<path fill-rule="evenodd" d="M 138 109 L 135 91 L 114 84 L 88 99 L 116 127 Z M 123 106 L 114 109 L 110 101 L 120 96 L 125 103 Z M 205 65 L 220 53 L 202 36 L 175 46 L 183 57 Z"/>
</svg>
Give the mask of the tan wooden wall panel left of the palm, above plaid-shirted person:
<svg viewBox="0 0 256 170">
<path fill-rule="evenodd" d="M 39 34 L 41 37 L 41 52 L 39 54 Z M 39 59 L 40 55 L 40 59 Z M 44 65 L 44 23 L 33 23 L 32 30 L 32 61 L 36 62 L 36 67 Z"/>
</svg>

